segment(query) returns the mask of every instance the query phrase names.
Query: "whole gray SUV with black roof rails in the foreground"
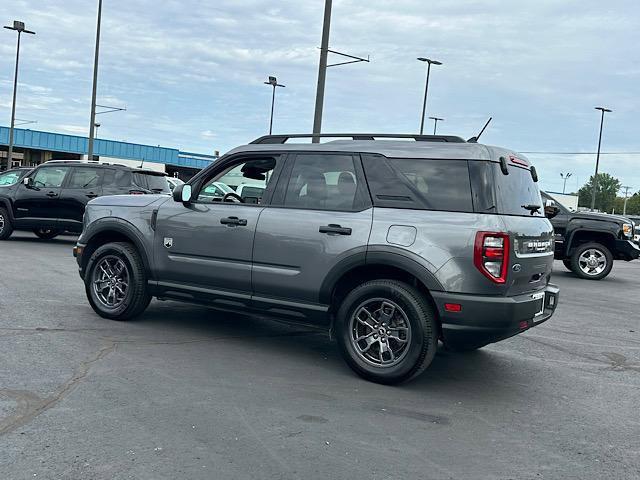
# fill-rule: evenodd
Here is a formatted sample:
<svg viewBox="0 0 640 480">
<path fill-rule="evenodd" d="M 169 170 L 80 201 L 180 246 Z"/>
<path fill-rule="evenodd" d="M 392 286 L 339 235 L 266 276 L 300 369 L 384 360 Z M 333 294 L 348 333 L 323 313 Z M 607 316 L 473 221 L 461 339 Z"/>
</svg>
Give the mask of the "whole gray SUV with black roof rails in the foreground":
<svg viewBox="0 0 640 480">
<path fill-rule="evenodd" d="M 321 324 L 387 384 L 439 340 L 473 350 L 553 314 L 553 228 L 524 157 L 449 136 L 301 136 L 236 148 L 173 198 L 92 200 L 74 254 L 96 313 L 127 320 L 157 297 Z"/>
</svg>

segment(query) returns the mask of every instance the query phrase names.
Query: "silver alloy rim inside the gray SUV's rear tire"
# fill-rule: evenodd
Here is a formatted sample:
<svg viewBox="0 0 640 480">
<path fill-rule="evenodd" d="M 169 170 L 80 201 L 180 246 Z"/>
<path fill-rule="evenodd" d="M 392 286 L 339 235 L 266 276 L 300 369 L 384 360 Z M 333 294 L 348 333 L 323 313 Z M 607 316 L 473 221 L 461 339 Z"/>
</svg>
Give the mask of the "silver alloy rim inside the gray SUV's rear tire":
<svg viewBox="0 0 640 480">
<path fill-rule="evenodd" d="M 376 367 L 392 367 L 409 351 L 411 324 L 397 303 L 385 298 L 369 299 L 354 310 L 349 339 L 365 362 Z"/>
</svg>

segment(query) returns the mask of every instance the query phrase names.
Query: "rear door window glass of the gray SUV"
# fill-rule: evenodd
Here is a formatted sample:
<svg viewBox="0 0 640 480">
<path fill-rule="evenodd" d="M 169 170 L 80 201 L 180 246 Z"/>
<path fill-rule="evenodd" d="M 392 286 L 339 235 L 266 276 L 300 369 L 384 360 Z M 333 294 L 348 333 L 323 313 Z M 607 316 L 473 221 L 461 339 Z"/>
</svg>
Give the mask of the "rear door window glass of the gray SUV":
<svg viewBox="0 0 640 480">
<path fill-rule="evenodd" d="M 357 186 L 353 156 L 298 155 L 284 203 L 317 210 L 354 210 Z"/>
</svg>

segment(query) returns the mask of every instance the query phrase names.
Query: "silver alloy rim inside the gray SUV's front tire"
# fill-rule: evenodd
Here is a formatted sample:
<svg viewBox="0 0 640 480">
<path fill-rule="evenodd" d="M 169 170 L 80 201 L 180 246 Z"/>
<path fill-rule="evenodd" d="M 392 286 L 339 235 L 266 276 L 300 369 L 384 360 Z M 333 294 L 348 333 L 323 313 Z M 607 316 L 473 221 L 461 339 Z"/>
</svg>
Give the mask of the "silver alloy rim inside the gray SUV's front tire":
<svg viewBox="0 0 640 480">
<path fill-rule="evenodd" d="M 95 298 L 107 308 L 119 307 L 127 298 L 129 278 L 129 270 L 119 257 L 102 258 L 93 270 Z"/>
</svg>

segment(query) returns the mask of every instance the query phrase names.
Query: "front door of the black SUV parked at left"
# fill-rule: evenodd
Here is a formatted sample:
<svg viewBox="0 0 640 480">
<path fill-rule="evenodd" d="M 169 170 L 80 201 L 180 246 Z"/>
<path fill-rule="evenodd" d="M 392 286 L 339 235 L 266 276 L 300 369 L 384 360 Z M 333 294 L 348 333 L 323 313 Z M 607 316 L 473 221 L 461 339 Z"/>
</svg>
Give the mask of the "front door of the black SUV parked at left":
<svg viewBox="0 0 640 480">
<path fill-rule="evenodd" d="M 69 173 L 68 166 L 38 168 L 30 186 L 21 184 L 16 191 L 14 214 L 18 225 L 53 226 L 60 215 L 60 192 Z"/>
</svg>

